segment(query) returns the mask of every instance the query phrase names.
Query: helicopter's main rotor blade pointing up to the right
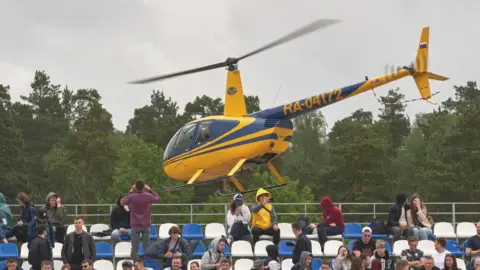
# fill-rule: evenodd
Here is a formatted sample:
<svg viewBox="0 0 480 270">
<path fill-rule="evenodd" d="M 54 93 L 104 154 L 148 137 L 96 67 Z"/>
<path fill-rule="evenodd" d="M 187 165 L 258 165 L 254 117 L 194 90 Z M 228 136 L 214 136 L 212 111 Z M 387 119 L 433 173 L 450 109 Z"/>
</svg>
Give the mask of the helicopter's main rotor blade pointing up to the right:
<svg viewBox="0 0 480 270">
<path fill-rule="evenodd" d="M 271 49 L 273 47 L 276 47 L 278 45 L 281 45 L 283 43 L 286 43 L 288 41 L 292 41 L 296 38 L 299 38 L 301 36 L 304 36 L 304 35 L 307 35 L 309 33 L 312 33 L 318 29 L 321 29 L 321 28 L 325 28 L 325 27 L 328 27 L 330 25 L 333 25 L 333 24 L 336 24 L 336 23 L 339 23 L 341 22 L 340 20 L 333 20 L 333 19 L 319 19 L 319 20 L 316 20 L 308 25 L 305 25 L 295 31 L 293 31 L 292 33 L 286 35 L 286 36 L 283 36 L 282 38 L 279 38 L 278 40 L 274 41 L 274 42 L 271 42 L 253 52 L 250 52 L 248 54 L 245 54 L 239 58 L 236 58 L 237 60 L 242 60 L 242 59 L 245 59 L 247 57 L 250 57 L 254 54 L 257 54 L 259 52 L 262 52 L 262 51 L 265 51 L 265 50 L 268 50 L 268 49 Z"/>
</svg>

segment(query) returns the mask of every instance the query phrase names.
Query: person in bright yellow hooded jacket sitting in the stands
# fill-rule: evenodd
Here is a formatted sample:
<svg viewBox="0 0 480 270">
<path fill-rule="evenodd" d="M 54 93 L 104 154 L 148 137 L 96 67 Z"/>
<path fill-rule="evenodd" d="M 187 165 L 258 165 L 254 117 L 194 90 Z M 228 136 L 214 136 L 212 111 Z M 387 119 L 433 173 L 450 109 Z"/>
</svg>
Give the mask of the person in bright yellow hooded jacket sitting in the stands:
<svg viewBox="0 0 480 270">
<path fill-rule="evenodd" d="M 275 208 L 270 203 L 271 195 L 263 188 L 257 190 L 256 203 L 252 205 L 252 235 L 253 244 L 260 239 L 260 235 L 273 236 L 273 243 L 280 242 L 280 228 L 278 227 Z"/>
</svg>

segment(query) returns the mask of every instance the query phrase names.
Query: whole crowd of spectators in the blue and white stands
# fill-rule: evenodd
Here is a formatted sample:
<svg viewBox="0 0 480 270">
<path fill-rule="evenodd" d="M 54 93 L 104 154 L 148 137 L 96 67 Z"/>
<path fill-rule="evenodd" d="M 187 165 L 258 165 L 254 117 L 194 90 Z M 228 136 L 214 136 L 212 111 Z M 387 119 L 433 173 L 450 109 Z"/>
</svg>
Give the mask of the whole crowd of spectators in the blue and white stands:
<svg viewBox="0 0 480 270">
<path fill-rule="evenodd" d="M 168 238 L 150 243 L 152 204 L 159 202 L 160 197 L 141 180 L 118 198 L 110 214 L 110 228 L 101 234 L 111 236 L 113 247 L 124 239 L 131 239 L 131 261 L 125 260 L 123 269 L 143 270 L 147 269 L 144 260 L 159 260 L 164 269 L 227 270 L 233 266 L 232 258 L 225 252 L 227 246 L 250 237 L 255 245 L 262 236 L 270 236 L 272 244 L 265 247 L 266 258 L 255 261 L 252 269 L 282 269 L 280 227 L 271 194 L 260 188 L 255 198 L 256 201 L 248 207 L 241 194 L 233 197 L 226 213 L 227 235 L 213 239 L 200 261 L 192 260 L 195 241 L 184 239 L 177 226 L 169 229 Z M 26 193 L 19 193 L 17 199 L 21 215 L 14 220 L 5 197 L 0 193 L 0 242 L 8 243 L 9 238 L 15 237 L 19 249 L 27 243 L 31 269 L 53 269 L 55 243 L 62 243 L 64 264 L 61 269 L 94 269 L 97 254 L 94 237 L 85 231 L 83 217 L 75 217 L 74 230 L 67 232 L 67 222 L 70 221 L 58 194 L 47 194 L 44 205 L 38 208 Z M 320 205 L 323 208 L 321 221 L 310 222 L 308 217 L 299 217 L 291 224 L 295 239 L 287 243 L 293 249 L 289 269 L 313 269 L 312 236 L 318 237 L 324 253 L 329 237 L 345 233 L 342 210 L 329 197 L 322 198 Z M 480 270 L 480 222 L 476 223 L 476 229 L 477 234 L 471 236 L 464 247 L 468 268 Z M 382 230 L 391 235 L 391 242 L 373 239 L 373 235 L 382 233 Z M 434 230 L 433 218 L 418 194 L 413 194 L 409 200 L 405 194 L 397 194 L 386 222 L 375 220 L 363 227 L 360 239 L 354 240 L 350 246 L 339 246 L 332 261 L 322 260 L 315 270 L 458 270 L 457 258 L 446 249 L 445 238 L 434 239 L 435 251 L 431 255 L 425 255 L 418 248 L 419 241 L 431 239 Z M 388 247 L 402 238 L 407 239 L 408 248 L 401 254 L 392 254 Z M 146 247 L 143 258 L 138 256 L 140 243 Z M 22 268 L 17 258 L 7 258 L 4 269 Z"/>
</svg>

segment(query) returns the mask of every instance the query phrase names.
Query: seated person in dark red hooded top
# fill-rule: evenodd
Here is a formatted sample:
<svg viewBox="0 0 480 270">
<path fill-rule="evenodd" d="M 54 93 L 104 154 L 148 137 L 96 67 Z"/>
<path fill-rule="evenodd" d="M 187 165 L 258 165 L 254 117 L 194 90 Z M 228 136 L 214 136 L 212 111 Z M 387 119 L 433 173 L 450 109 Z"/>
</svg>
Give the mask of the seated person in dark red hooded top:
<svg viewBox="0 0 480 270">
<path fill-rule="evenodd" d="M 330 197 L 323 197 L 320 200 L 320 205 L 323 208 L 323 221 L 319 224 L 310 224 L 310 227 L 317 227 L 318 240 L 323 251 L 327 237 L 329 235 L 343 234 L 345 225 L 343 223 L 342 210 L 333 204 Z"/>
</svg>

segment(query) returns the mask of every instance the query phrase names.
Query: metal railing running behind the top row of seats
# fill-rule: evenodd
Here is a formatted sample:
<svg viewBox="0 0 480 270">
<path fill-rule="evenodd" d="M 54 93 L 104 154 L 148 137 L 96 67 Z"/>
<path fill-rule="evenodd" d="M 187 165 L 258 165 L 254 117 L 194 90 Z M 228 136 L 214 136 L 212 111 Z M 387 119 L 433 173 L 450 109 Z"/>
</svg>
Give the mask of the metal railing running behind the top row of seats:
<svg viewBox="0 0 480 270">
<path fill-rule="evenodd" d="M 248 205 L 248 204 L 247 204 Z M 319 203 L 273 203 L 280 222 L 293 222 L 300 216 L 306 216 L 311 222 L 322 218 Z M 358 222 L 362 225 L 373 219 L 387 220 L 392 203 L 337 203 L 342 209 L 345 222 Z M 425 204 L 435 222 L 450 222 L 454 226 L 462 221 L 476 221 L 480 217 L 480 202 L 428 202 Z M 64 204 L 67 215 L 85 217 L 86 224 L 110 223 L 110 213 L 115 204 Z M 18 205 L 10 205 L 15 217 L 19 216 Z M 154 204 L 152 207 L 152 223 L 226 223 L 227 203 L 203 204 Z"/>
</svg>

